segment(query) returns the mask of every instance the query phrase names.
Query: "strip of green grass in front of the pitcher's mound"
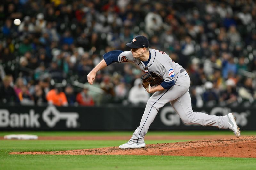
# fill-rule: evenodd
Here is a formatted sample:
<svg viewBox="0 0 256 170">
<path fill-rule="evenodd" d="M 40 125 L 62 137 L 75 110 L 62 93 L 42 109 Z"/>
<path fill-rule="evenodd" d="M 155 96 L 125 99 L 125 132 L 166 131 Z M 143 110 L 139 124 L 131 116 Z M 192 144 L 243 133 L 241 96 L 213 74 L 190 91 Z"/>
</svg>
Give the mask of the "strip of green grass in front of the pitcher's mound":
<svg viewBox="0 0 256 170">
<path fill-rule="evenodd" d="M 15 161 L 14 161 L 15 160 Z M 255 169 L 255 159 L 182 156 L 12 155 L 1 169 Z"/>
</svg>

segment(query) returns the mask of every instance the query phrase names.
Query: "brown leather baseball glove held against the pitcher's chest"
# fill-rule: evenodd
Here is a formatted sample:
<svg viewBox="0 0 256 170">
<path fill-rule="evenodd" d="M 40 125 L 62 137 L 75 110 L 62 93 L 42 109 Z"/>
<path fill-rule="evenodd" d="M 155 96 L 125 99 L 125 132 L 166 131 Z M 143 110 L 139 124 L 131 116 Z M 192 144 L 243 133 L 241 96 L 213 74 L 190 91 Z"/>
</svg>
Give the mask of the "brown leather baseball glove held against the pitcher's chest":
<svg viewBox="0 0 256 170">
<path fill-rule="evenodd" d="M 144 74 L 141 77 L 141 79 L 142 79 L 142 85 L 145 89 L 148 88 L 149 84 L 151 87 L 153 87 L 154 85 L 160 85 L 160 83 L 164 81 L 164 79 L 160 75 L 156 74 L 153 71 Z"/>
</svg>

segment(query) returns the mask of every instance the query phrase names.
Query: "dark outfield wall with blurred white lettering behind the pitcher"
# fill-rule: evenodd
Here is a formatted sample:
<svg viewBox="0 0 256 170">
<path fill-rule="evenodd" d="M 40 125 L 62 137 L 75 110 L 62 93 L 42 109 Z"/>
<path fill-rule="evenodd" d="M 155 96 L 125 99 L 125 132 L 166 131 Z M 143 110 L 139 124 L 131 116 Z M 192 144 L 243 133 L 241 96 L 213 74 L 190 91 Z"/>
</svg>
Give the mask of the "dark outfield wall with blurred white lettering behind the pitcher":
<svg viewBox="0 0 256 170">
<path fill-rule="evenodd" d="M 203 107 L 195 112 L 226 115 L 233 112 L 242 130 L 256 130 L 255 107 Z M 99 107 L 1 106 L 0 130 L 134 130 L 144 106 Z M 150 130 L 216 130 L 215 127 L 185 125 L 171 105 L 162 107 Z"/>
</svg>

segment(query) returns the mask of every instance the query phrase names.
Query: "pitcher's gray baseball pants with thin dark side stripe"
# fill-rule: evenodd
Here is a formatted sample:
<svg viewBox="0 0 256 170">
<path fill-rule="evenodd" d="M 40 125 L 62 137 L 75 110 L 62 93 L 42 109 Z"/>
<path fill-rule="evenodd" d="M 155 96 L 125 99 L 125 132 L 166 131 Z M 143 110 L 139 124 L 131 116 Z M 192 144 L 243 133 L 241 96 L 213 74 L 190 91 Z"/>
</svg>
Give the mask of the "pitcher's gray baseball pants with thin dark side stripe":
<svg viewBox="0 0 256 170">
<path fill-rule="evenodd" d="M 131 140 L 133 142 L 144 142 L 150 124 L 156 117 L 158 110 L 170 102 L 185 124 L 199 124 L 203 126 L 215 126 L 228 129 L 228 118 L 226 116 L 208 115 L 201 112 L 193 112 L 191 98 L 188 92 L 190 78 L 186 71 L 177 74 L 175 85 L 169 90 L 155 92 L 147 102 L 140 126 L 134 131 Z"/>
</svg>

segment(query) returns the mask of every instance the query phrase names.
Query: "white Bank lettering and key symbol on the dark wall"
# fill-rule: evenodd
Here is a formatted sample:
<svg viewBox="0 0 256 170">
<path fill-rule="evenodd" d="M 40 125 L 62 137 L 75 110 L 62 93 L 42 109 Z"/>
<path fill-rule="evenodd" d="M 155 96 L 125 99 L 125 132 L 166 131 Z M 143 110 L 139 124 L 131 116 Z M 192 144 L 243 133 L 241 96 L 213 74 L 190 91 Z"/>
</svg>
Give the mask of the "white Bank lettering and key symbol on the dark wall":
<svg viewBox="0 0 256 170">
<path fill-rule="evenodd" d="M 66 121 L 67 128 L 78 126 L 77 112 L 60 112 L 55 106 L 48 106 L 42 114 L 30 109 L 29 113 L 10 113 L 7 109 L 0 109 L 0 127 L 40 128 L 40 116 L 48 127 L 54 127 L 60 120 Z"/>
</svg>

